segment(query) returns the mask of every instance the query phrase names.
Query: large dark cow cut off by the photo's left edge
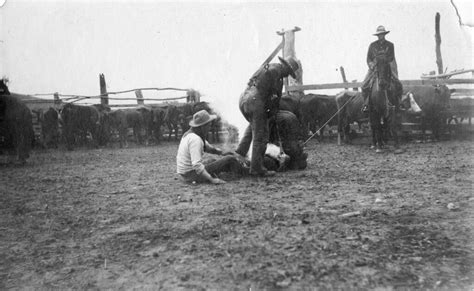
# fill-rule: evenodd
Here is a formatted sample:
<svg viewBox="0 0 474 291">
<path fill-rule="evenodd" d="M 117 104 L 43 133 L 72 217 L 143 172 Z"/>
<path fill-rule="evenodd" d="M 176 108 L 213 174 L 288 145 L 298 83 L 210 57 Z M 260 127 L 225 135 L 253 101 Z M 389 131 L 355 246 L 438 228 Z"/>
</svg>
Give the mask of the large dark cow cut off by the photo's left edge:
<svg viewBox="0 0 474 291">
<path fill-rule="evenodd" d="M 0 95 L 0 148 L 15 155 L 20 164 L 25 164 L 34 140 L 32 114 L 17 94 L 10 94 L 8 90 L 2 92 L 8 95 Z"/>
</svg>

